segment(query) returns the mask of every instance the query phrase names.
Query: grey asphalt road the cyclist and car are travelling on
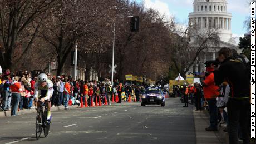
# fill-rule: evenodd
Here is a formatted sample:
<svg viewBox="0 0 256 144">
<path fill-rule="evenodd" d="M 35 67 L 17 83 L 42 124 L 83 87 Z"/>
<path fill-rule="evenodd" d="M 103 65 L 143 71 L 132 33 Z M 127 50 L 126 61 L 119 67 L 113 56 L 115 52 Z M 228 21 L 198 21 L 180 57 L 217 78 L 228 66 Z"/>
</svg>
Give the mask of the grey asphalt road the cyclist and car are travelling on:
<svg viewBox="0 0 256 144">
<path fill-rule="evenodd" d="M 0 143 L 196 143 L 192 107 L 168 98 L 52 112 L 47 138 L 36 140 L 35 113 L 0 119 Z"/>
</svg>

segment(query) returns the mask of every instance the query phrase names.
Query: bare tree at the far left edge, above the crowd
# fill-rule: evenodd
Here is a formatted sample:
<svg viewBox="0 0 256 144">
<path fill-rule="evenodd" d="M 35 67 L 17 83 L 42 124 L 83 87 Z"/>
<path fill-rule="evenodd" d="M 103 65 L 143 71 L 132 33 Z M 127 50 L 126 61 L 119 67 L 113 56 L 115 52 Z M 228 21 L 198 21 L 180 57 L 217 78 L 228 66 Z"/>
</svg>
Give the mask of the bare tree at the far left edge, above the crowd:
<svg viewBox="0 0 256 144">
<path fill-rule="evenodd" d="M 16 59 L 23 58 L 36 38 L 47 11 L 58 7 L 56 0 L 2 0 L 0 2 L 0 38 L 3 47 L 0 64 L 3 68 L 14 69 L 13 54 L 22 45 Z M 26 42 L 21 39 L 26 37 Z M 20 49 L 19 49 L 20 50 Z"/>
</svg>

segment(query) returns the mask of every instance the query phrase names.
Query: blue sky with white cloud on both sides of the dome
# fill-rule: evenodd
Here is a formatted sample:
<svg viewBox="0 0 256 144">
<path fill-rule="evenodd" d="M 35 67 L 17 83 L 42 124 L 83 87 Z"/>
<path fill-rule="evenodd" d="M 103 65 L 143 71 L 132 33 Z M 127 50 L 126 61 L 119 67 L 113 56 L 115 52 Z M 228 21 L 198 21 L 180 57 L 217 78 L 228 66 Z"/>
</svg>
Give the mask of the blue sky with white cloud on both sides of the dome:
<svg viewBox="0 0 256 144">
<path fill-rule="evenodd" d="M 188 22 L 188 14 L 193 12 L 194 0 L 135 0 L 144 1 L 147 8 L 151 7 L 161 13 L 174 16 L 179 23 Z M 243 36 L 247 32 L 244 28 L 244 20 L 250 14 L 247 0 L 227 0 L 229 13 L 232 13 L 232 33 L 235 37 Z"/>
</svg>

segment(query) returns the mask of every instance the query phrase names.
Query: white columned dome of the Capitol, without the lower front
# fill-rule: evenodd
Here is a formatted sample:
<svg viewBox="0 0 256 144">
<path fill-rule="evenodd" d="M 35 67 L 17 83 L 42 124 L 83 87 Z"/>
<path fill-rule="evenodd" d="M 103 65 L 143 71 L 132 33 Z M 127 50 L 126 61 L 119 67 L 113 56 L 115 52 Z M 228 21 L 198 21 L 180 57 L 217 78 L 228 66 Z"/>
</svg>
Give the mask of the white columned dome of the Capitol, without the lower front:
<svg viewBox="0 0 256 144">
<path fill-rule="evenodd" d="M 227 12 L 226 0 L 195 0 L 193 12 L 189 13 L 189 24 L 204 31 L 207 28 L 218 29 L 220 40 L 235 44 L 232 39 L 232 14 Z"/>
</svg>

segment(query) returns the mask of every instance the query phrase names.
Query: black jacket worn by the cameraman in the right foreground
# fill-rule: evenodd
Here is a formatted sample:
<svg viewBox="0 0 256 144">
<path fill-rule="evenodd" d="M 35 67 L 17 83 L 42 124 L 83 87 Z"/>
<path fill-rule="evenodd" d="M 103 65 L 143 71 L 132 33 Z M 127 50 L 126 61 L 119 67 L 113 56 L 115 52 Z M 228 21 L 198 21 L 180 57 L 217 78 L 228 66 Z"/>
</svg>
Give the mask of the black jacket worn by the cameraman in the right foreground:
<svg viewBox="0 0 256 144">
<path fill-rule="evenodd" d="M 250 96 L 250 80 L 246 73 L 245 65 L 239 59 L 230 57 L 221 63 L 219 70 L 214 71 L 214 81 L 220 85 L 226 79 L 231 97 L 245 98 Z"/>
</svg>

